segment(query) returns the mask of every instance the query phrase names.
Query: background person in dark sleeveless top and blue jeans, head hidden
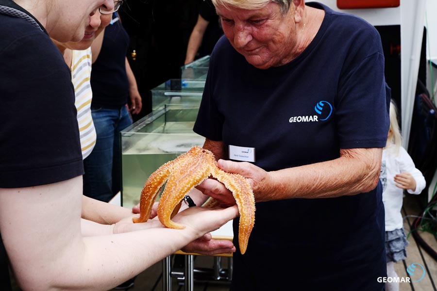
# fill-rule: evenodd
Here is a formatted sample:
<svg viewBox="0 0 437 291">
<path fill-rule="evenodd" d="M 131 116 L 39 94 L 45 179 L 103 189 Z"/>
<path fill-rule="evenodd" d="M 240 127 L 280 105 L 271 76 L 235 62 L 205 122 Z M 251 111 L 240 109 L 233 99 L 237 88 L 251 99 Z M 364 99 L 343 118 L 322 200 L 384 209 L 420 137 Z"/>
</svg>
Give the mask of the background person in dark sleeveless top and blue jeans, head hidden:
<svg viewBox="0 0 437 291">
<path fill-rule="evenodd" d="M 91 115 L 97 141 L 84 160 L 84 195 L 103 202 L 111 200 L 121 189 L 119 132 L 132 124 L 130 113 L 137 114 L 142 107 L 126 58 L 128 46 L 129 36 L 114 13 L 91 47 Z"/>
</svg>

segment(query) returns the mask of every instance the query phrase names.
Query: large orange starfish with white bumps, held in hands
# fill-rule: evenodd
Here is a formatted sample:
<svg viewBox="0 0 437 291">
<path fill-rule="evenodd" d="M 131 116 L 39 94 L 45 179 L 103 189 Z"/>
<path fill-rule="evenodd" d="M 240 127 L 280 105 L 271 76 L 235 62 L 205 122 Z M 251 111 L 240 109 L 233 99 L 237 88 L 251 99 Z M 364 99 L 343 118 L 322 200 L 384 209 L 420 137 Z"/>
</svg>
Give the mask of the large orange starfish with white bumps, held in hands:
<svg viewBox="0 0 437 291">
<path fill-rule="evenodd" d="M 181 201 L 191 189 L 211 175 L 234 195 L 240 212 L 238 242 L 241 254 L 244 254 L 255 222 L 255 199 L 251 185 L 243 176 L 219 169 L 213 153 L 199 146 L 194 146 L 173 161 L 163 164 L 150 175 L 141 191 L 140 217 L 134 218 L 134 223 L 149 219 L 155 197 L 167 182 L 158 202 L 159 221 L 169 228 L 185 228 L 184 225 L 171 221 L 172 213 L 179 210 Z M 206 203 L 208 207 L 215 204 L 211 199 L 213 198 Z"/>
</svg>

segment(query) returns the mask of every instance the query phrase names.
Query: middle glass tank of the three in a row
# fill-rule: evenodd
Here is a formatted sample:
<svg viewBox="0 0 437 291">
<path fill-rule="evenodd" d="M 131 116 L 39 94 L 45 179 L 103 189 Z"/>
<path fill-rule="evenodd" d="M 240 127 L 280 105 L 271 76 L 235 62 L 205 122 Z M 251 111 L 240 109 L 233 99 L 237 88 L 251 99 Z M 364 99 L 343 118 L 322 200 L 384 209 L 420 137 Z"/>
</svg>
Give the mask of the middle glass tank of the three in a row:
<svg viewBox="0 0 437 291">
<path fill-rule="evenodd" d="M 199 107 L 205 81 L 170 79 L 151 89 L 152 111 L 165 104 Z"/>
</svg>

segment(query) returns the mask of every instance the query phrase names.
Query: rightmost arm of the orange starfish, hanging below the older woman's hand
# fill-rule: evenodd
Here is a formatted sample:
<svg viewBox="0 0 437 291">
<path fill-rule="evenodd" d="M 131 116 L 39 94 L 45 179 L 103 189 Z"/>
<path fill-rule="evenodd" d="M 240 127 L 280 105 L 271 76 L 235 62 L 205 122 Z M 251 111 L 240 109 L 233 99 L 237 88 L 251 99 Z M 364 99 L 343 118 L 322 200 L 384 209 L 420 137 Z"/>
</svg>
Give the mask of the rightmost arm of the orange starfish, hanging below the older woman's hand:
<svg viewBox="0 0 437 291">
<path fill-rule="evenodd" d="M 234 195 L 240 212 L 238 226 L 238 245 L 241 254 L 244 254 L 255 223 L 255 198 L 248 180 L 239 174 L 226 173 L 219 168 L 212 171 L 213 177 L 222 182 Z"/>
</svg>

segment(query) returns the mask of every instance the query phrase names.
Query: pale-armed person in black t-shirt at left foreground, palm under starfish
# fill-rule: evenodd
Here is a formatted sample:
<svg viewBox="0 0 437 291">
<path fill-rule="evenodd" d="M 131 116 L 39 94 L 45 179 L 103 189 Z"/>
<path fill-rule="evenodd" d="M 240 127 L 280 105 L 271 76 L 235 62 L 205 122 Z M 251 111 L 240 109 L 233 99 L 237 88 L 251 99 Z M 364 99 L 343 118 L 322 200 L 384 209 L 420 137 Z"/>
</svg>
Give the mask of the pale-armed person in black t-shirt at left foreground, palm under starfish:
<svg viewBox="0 0 437 291">
<path fill-rule="evenodd" d="M 22 290 L 109 290 L 238 214 L 192 207 L 176 230 L 82 195 L 74 88 L 50 37 L 80 41 L 114 4 L 0 0 L 0 233 Z"/>
</svg>

